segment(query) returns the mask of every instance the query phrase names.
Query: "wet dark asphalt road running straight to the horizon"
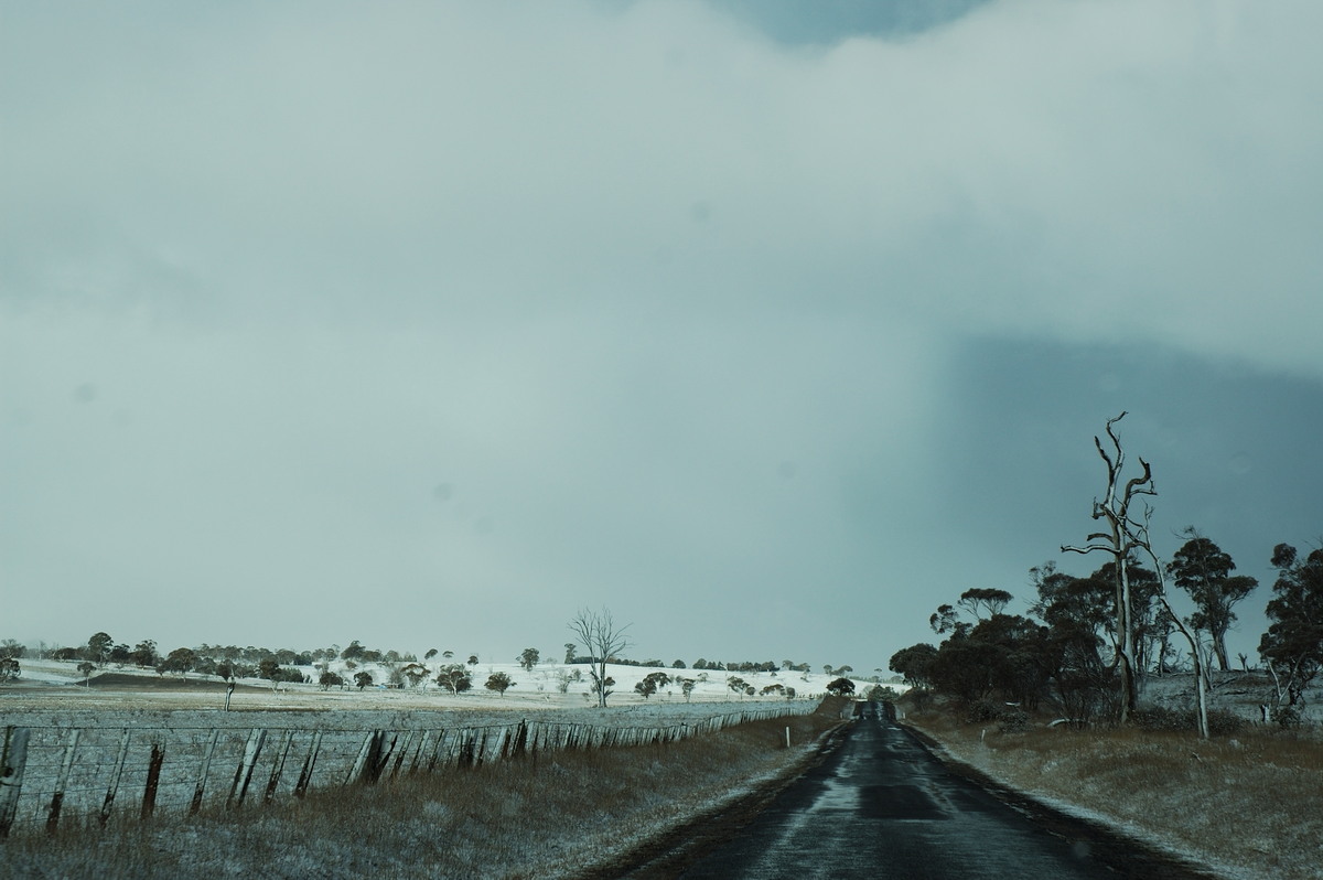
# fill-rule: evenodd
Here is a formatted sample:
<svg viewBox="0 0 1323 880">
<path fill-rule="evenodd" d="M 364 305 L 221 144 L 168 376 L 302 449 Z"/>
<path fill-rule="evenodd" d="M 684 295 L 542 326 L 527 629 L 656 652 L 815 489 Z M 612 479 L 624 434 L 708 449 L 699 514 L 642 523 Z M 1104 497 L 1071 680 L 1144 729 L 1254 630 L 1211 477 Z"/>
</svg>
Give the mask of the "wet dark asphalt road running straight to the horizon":
<svg viewBox="0 0 1323 880">
<path fill-rule="evenodd" d="M 747 816 L 732 820 L 724 839 L 709 840 L 699 851 L 680 847 L 623 876 L 1207 876 L 1094 826 L 994 797 L 979 783 L 947 770 L 875 704 L 865 704 L 864 717 L 827 760 L 746 824 L 741 820 Z"/>
</svg>

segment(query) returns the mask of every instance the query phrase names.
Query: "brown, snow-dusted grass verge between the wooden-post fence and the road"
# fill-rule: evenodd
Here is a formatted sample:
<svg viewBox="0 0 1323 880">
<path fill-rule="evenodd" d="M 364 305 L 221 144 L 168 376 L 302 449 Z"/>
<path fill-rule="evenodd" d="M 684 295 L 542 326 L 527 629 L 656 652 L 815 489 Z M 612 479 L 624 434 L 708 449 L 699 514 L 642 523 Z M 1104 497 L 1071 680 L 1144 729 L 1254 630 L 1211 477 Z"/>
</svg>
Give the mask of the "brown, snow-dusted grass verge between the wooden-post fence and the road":
<svg viewBox="0 0 1323 880">
<path fill-rule="evenodd" d="M 785 771 L 837 723 L 826 709 L 669 745 L 490 762 L 233 813 L 70 823 L 0 843 L 0 876 L 573 877 Z"/>
</svg>

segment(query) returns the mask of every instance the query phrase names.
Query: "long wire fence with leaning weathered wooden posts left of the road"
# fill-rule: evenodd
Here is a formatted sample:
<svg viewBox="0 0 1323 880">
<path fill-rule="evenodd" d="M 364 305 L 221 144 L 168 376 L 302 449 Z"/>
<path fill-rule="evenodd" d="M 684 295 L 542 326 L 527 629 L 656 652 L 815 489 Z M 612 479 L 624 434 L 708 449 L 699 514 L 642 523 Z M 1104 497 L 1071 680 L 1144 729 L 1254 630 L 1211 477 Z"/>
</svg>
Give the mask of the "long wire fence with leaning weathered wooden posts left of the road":
<svg viewBox="0 0 1323 880">
<path fill-rule="evenodd" d="M 546 720 L 372 730 L 9 725 L 0 756 L 0 839 L 12 828 L 40 823 L 53 832 L 69 816 L 95 816 L 105 826 L 112 814 L 128 814 L 135 806 L 143 820 L 157 810 L 197 814 L 208 803 L 238 810 L 254 778 L 259 782 L 251 797 L 267 803 L 283 794 L 302 798 L 311 789 L 374 785 L 407 773 L 676 742 L 816 708 L 816 703 L 787 703 L 656 726 Z M 286 773 L 291 760 L 296 775 L 292 769 Z"/>
</svg>

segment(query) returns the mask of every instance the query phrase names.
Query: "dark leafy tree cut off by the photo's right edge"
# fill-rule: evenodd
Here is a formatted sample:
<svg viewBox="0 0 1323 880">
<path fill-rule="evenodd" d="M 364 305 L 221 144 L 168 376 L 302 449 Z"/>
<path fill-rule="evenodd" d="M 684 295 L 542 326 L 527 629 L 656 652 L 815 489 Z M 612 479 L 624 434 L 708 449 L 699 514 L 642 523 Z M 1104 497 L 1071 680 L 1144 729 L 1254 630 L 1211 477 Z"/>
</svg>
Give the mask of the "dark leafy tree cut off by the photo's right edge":
<svg viewBox="0 0 1323 880">
<path fill-rule="evenodd" d="M 1267 602 L 1269 627 L 1258 652 L 1277 684 L 1275 703 L 1304 704 L 1304 692 L 1323 670 L 1323 548 L 1303 560 L 1290 544 L 1273 548 L 1277 582 Z"/>
</svg>

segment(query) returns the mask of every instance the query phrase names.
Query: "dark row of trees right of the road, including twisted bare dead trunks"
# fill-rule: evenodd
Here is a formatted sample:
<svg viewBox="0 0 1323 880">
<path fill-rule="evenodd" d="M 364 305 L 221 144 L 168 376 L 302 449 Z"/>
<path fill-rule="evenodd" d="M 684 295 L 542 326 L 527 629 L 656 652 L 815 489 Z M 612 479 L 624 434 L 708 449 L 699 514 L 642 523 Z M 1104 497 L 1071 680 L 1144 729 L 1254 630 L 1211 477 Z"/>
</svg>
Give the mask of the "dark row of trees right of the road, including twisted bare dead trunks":
<svg viewBox="0 0 1323 880">
<path fill-rule="evenodd" d="M 1208 670 L 1215 662 L 1222 671 L 1233 668 L 1226 634 L 1237 619 L 1236 605 L 1258 582 L 1236 574 L 1230 554 L 1193 527 L 1181 532 L 1185 541 L 1170 560 L 1154 553 L 1146 499 L 1156 495 L 1152 468 L 1139 459 L 1139 472 L 1127 475 L 1115 433 L 1123 416 L 1109 419 L 1109 442 L 1094 438 L 1107 468 L 1106 491 L 1093 506 L 1101 528 L 1082 547 L 1061 547 L 1101 553 L 1106 561 L 1085 577 L 1050 561 L 1031 569 L 1035 595 L 1027 615 L 1005 613 L 1013 598 L 1005 590 L 963 592 L 929 619 L 945 640 L 897 651 L 892 671 L 912 687 L 968 705 L 1032 711 L 1050 701 L 1076 724 L 1125 724 L 1140 709 L 1144 679 L 1174 671 L 1183 644 L 1196 682 L 1195 724 L 1201 736 L 1209 734 Z M 1289 725 L 1301 720 L 1304 693 L 1323 668 L 1323 548 L 1302 556 L 1278 544 L 1270 561 L 1277 580 L 1258 656 L 1273 682 L 1265 711 Z M 1172 589 L 1188 597 L 1193 613 L 1174 610 Z M 1237 660 L 1249 670 L 1248 655 Z"/>
</svg>

